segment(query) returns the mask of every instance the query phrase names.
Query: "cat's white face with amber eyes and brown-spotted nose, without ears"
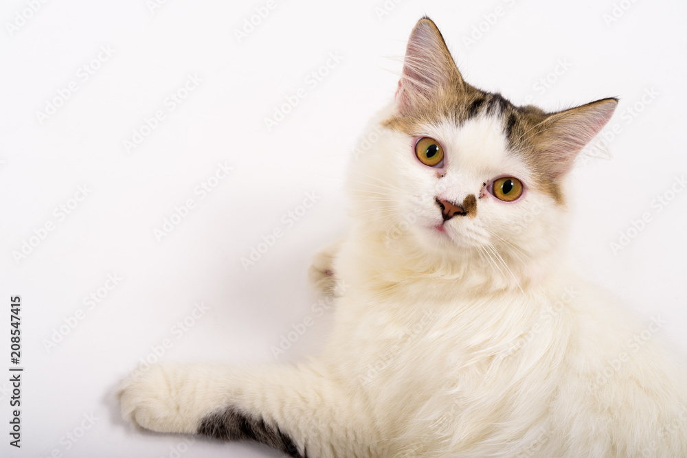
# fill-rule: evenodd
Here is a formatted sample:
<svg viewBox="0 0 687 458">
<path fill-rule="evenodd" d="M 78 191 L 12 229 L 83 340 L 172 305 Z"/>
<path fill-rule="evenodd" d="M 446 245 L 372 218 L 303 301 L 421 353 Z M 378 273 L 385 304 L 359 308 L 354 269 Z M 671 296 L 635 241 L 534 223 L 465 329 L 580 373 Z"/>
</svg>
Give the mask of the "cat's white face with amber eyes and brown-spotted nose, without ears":
<svg viewBox="0 0 687 458">
<path fill-rule="evenodd" d="M 461 126 L 439 122 L 420 131 L 390 135 L 398 147 L 387 170 L 403 190 L 392 192 L 401 220 L 405 216 L 408 230 L 428 249 L 488 252 L 490 244 L 499 251 L 502 242 L 522 245 L 535 229 L 527 216 L 546 219 L 538 210 L 556 207 L 528 164 L 509 154 L 499 117 L 475 117 Z"/>
</svg>

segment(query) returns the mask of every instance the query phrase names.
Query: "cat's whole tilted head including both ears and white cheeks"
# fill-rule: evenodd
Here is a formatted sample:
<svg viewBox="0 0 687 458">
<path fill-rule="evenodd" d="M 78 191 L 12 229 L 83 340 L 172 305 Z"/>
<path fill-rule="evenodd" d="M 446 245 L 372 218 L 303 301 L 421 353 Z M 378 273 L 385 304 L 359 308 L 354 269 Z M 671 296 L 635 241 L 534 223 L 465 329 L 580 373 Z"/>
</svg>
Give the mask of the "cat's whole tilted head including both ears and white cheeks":
<svg viewBox="0 0 687 458">
<path fill-rule="evenodd" d="M 617 102 L 556 113 L 515 106 L 465 82 L 423 18 L 394 102 L 368 135 L 376 141 L 353 161 L 353 216 L 414 270 L 470 263 L 531 279 L 565 231 L 565 177 Z"/>
</svg>

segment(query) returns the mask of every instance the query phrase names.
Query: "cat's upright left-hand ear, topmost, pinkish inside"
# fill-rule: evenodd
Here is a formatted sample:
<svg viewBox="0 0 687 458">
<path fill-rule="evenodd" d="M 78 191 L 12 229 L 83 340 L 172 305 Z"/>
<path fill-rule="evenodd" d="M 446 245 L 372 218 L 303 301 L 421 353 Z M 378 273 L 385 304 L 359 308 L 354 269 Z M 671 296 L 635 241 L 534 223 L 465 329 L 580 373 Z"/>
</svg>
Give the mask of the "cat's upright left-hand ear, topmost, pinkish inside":
<svg viewBox="0 0 687 458">
<path fill-rule="evenodd" d="M 413 28 L 405 49 L 396 91 L 399 114 L 412 113 L 427 101 L 440 98 L 447 88 L 463 84 L 444 37 L 431 19 L 423 17 Z"/>
</svg>

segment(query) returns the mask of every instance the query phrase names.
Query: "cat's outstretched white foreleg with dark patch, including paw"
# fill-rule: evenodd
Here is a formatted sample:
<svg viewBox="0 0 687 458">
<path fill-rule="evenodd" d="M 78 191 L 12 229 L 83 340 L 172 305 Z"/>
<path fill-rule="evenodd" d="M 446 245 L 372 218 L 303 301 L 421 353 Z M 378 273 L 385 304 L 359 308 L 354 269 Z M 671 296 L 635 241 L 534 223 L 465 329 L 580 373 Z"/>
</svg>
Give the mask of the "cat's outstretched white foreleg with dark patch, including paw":
<svg viewBox="0 0 687 458">
<path fill-rule="evenodd" d="M 362 445 L 376 442 L 370 407 L 312 365 L 166 363 L 134 372 L 118 394 L 122 415 L 153 431 L 256 440 L 294 457 L 377 455 Z"/>
</svg>

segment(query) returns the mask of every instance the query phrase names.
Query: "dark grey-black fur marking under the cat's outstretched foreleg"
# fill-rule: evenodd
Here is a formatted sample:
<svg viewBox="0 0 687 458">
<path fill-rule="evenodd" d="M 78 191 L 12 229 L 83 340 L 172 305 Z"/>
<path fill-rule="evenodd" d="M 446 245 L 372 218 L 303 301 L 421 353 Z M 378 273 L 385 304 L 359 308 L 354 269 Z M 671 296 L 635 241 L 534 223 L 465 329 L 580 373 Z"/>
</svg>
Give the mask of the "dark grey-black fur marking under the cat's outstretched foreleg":
<svg viewBox="0 0 687 458">
<path fill-rule="evenodd" d="M 276 425 L 267 424 L 261 417 L 241 413 L 233 407 L 207 415 L 201 421 L 198 434 L 224 441 L 252 440 L 280 450 L 290 457 L 307 458 L 301 455 L 289 435 L 280 431 Z"/>
</svg>

